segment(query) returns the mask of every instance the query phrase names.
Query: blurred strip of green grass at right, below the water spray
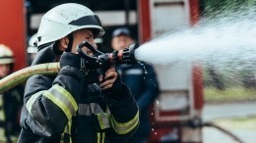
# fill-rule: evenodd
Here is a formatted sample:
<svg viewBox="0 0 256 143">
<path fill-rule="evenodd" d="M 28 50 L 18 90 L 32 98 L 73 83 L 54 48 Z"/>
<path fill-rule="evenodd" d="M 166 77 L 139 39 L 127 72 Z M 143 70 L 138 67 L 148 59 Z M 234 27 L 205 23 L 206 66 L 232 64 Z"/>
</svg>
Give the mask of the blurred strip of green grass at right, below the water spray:
<svg viewBox="0 0 256 143">
<path fill-rule="evenodd" d="M 206 102 L 256 101 L 256 89 L 237 86 L 219 90 L 214 87 L 205 87 L 204 97 Z"/>
</svg>

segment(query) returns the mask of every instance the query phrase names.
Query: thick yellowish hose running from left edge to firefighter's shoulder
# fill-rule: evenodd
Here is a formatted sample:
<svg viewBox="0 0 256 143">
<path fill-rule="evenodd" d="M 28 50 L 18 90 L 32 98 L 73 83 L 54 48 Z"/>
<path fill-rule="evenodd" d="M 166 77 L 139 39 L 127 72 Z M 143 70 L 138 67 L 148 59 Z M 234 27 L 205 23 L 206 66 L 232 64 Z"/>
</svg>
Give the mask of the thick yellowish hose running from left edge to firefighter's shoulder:
<svg viewBox="0 0 256 143">
<path fill-rule="evenodd" d="M 34 74 L 56 75 L 59 71 L 59 63 L 39 64 L 15 71 L 0 80 L 0 94 L 25 82 Z"/>
</svg>

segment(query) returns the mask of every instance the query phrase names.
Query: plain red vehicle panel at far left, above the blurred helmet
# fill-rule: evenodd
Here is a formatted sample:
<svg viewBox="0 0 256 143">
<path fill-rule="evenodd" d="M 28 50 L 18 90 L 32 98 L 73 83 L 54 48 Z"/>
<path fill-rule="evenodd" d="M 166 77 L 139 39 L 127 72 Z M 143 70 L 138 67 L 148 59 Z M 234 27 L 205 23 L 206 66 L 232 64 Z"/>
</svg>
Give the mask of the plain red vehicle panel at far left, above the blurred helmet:
<svg viewBox="0 0 256 143">
<path fill-rule="evenodd" d="M 15 71 L 26 67 L 26 21 L 23 0 L 0 0 L 0 43 L 15 55 Z"/>
</svg>

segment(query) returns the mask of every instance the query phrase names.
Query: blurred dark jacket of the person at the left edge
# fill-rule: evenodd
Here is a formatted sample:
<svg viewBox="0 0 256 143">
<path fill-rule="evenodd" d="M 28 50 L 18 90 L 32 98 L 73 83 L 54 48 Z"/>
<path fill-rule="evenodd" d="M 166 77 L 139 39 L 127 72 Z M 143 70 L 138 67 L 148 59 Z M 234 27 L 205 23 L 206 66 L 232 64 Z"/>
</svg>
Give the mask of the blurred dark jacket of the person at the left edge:
<svg viewBox="0 0 256 143">
<path fill-rule="evenodd" d="M 21 131 L 19 119 L 23 94 L 24 86 L 18 85 L 0 95 L 0 142 L 17 142 Z"/>
</svg>

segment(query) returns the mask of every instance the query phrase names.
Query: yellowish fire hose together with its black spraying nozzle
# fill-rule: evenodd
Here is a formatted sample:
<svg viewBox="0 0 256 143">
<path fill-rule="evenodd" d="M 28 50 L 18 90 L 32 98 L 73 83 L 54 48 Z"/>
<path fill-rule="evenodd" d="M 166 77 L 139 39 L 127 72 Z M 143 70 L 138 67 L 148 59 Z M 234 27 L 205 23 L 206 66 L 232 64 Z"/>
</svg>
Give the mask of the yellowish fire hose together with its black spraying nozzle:
<svg viewBox="0 0 256 143">
<path fill-rule="evenodd" d="M 90 49 L 94 53 L 94 56 L 89 56 L 88 54 L 84 53 L 82 50 L 84 47 Z M 138 45 L 133 44 L 123 50 L 114 51 L 112 53 L 102 53 L 96 50 L 96 48 L 89 42 L 83 41 L 77 46 L 77 51 L 78 54 L 85 59 L 86 66 L 89 68 L 89 70 L 101 69 L 102 71 L 105 71 L 112 65 L 137 63 L 134 56 L 134 51 L 136 48 L 138 48 Z M 60 67 L 59 63 L 57 62 L 34 65 L 26 69 L 13 72 L 0 80 L 0 94 L 18 84 L 25 82 L 34 74 L 56 75 L 59 71 Z"/>
</svg>

